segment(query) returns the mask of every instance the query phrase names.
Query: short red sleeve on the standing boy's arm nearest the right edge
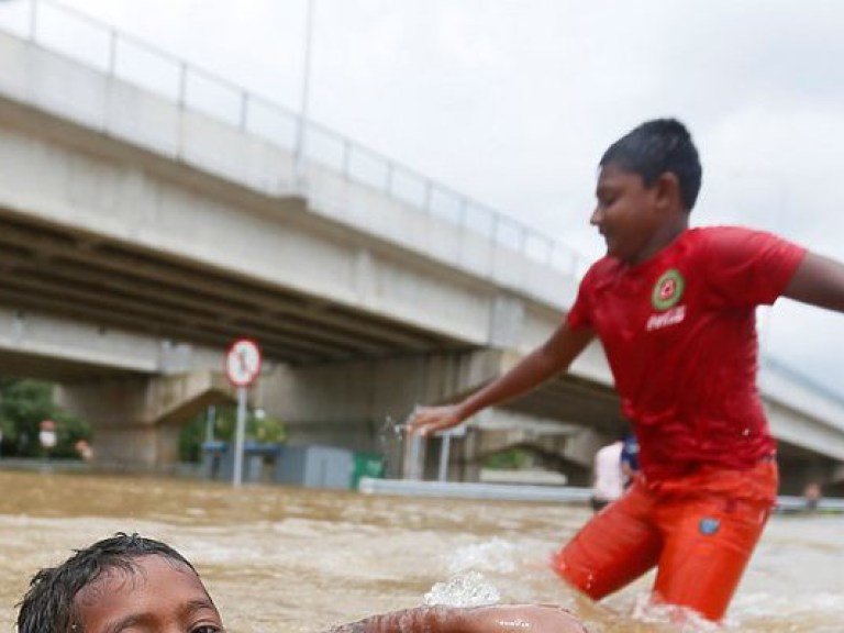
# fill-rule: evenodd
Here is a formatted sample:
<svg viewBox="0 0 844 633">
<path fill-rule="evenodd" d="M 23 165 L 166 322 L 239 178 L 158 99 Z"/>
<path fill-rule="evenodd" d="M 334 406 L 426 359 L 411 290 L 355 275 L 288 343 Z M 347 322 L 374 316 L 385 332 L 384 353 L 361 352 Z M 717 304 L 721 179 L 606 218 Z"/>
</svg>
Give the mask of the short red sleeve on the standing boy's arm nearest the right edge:
<svg viewBox="0 0 844 633">
<path fill-rule="evenodd" d="M 782 295 L 806 248 L 764 231 L 737 226 L 708 232 L 706 277 L 725 307 L 770 306 Z"/>
</svg>

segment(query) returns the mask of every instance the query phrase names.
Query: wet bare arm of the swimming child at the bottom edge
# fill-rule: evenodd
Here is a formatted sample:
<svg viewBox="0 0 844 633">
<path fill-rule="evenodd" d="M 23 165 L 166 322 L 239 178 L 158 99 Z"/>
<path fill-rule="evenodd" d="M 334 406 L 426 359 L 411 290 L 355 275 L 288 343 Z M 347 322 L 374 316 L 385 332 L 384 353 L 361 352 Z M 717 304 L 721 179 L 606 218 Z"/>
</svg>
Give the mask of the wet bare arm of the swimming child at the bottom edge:
<svg viewBox="0 0 844 633">
<path fill-rule="evenodd" d="M 562 607 L 419 607 L 335 626 L 330 633 L 588 633 Z"/>
</svg>

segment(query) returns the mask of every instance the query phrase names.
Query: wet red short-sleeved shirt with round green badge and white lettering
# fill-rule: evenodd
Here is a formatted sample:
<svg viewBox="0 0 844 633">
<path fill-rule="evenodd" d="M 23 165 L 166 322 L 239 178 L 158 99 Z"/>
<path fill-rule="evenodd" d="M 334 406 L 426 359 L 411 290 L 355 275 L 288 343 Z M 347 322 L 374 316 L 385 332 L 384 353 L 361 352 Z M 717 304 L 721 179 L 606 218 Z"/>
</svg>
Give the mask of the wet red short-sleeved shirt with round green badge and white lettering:
<svg viewBox="0 0 844 633">
<path fill-rule="evenodd" d="M 747 468 L 773 452 L 755 309 L 774 303 L 804 254 L 759 231 L 689 229 L 646 262 L 603 257 L 586 274 L 567 324 L 601 340 L 648 479 Z"/>
</svg>

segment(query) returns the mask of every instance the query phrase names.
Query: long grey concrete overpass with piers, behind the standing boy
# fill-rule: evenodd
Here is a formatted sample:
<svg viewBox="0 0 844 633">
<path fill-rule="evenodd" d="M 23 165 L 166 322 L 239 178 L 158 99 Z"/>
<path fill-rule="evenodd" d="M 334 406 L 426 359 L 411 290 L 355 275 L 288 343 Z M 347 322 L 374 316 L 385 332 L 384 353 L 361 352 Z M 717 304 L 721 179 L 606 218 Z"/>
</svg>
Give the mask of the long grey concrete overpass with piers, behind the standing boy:
<svg viewBox="0 0 844 633">
<path fill-rule="evenodd" d="M 60 5 L 31 8 L 0 32 L 0 363 L 59 382 L 100 459 L 173 465 L 179 424 L 231 398 L 222 355 L 240 336 L 267 358 L 254 402 L 295 438 L 373 448 L 385 415 L 492 379 L 570 304 L 581 264 L 565 247 Z M 62 21 L 102 55 L 54 40 L 44 24 Z M 152 73 L 124 70 L 137 51 Z M 790 485 L 843 475 L 842 399 L 774 365 L 762 388 Z M 452 476 L 528 443 L 578 480 L 623 425 L 592 346 L 454 438 Z"/>
</svg>

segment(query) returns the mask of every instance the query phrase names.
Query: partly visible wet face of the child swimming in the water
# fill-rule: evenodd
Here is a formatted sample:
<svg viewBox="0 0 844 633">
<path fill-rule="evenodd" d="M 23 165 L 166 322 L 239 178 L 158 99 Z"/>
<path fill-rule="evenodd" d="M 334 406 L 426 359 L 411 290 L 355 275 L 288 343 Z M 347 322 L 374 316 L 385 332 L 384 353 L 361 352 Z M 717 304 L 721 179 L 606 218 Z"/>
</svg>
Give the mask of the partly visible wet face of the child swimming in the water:
<svg viewBox="0 0 844 633">
<path fill-rule="evenodd" d="M 197 575 L 164 556 L 110 569 L 76 596 L 84 633 L 219 633 L 222 620 Z"/>
</svg>

